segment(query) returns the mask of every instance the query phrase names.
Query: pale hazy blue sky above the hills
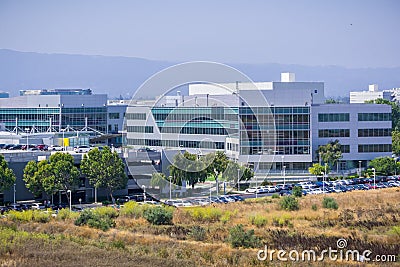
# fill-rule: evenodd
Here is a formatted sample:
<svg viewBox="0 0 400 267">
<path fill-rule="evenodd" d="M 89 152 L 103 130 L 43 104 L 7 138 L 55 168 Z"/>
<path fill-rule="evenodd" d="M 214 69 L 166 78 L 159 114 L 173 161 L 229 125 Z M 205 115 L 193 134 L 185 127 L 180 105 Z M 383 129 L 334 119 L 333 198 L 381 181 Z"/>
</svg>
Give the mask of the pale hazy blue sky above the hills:
<svg viewBox="0 0 400 267">
<path fill-rule="evenodd" d="M 400 66 L 400 1 L 0 0 L 0 48 L 170 61 Z"/>
</svg>

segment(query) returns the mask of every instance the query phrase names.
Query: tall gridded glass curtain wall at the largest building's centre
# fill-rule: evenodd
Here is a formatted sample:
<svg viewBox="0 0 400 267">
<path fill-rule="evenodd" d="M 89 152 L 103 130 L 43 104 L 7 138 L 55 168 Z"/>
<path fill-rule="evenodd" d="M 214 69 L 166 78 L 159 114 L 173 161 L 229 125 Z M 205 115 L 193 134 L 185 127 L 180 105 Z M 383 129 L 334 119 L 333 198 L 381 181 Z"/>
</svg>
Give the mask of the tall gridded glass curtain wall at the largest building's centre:
<svg viewBox="0 0 400 267">
<path fill-rule="evenodd" d="M 310 154 L 309 107 L 241 107 L 240 153 Z"/>
</svg>

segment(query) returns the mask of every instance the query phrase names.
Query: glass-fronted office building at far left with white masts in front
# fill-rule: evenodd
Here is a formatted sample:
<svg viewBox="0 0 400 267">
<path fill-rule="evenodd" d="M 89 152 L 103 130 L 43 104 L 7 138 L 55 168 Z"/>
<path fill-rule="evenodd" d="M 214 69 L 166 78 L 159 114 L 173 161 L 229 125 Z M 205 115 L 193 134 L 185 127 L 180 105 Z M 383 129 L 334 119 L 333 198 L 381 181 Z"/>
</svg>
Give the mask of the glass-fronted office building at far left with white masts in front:
<svg viewBox="0 0 400 267">
<path fill-rule="evenodd" d="M 91 94 L 90 89 L 27 90 L 21 94 L 0 99 L 0 122 L 9 131 L 35 128 L 45 132 L 70 127 L 107 132 L 105 94 Z"/>
</svg>

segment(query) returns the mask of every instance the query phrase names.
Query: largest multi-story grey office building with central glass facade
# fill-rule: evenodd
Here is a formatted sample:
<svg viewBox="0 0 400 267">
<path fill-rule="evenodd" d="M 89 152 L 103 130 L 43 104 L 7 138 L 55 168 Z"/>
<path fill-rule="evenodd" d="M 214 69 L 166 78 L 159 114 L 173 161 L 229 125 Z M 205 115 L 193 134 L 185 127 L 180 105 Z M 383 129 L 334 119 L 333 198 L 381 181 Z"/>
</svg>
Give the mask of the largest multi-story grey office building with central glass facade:
<svg viewBox="0 0 400 267">
<path fill-rule="evenodd" d="M 191 84 L 187 96 L 164 96 L 127 109 L 127 144 L 185 148 L 204 154 L 222 150 L 258 173 L 304 172 L 316 150 L 338 139 L 342 168 L 391 155 L 391 107 L 324 104 L 323 82 Z"/>
</svg>

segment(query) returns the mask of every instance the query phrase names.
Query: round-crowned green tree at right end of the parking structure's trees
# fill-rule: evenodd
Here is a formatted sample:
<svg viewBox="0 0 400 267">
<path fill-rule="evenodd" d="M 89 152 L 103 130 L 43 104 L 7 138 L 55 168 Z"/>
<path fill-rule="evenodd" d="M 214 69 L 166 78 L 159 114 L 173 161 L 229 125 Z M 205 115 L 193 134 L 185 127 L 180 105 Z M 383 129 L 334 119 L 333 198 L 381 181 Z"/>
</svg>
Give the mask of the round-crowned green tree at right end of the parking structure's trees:
<svg viewBox="0 0 400 267">
<path fill-rule="evenodd" d="M 113 202 L 113 192 L 125 188 L 128 183 L 124 162 L 109 147 L 89 151 L 82 159 L 81 170 L 91 185 L 106 189 Z"/>
</svg>

